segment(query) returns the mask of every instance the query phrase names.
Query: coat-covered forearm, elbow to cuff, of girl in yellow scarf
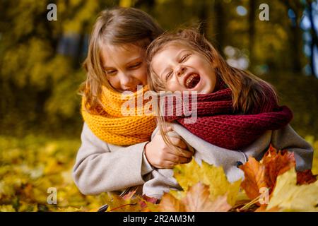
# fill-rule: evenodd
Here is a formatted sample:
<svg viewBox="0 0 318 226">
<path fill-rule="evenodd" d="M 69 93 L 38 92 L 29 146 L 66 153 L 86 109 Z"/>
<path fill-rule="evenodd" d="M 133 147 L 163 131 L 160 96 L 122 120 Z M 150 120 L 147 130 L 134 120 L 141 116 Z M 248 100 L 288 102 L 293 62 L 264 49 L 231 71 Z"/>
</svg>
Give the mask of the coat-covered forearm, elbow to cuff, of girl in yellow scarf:
<svg viewBox="0 0 318 226">
<path fill-rule="evenodd" d="M 73 178 L 83 194 L 118 191 L 143 184 L 141 165 L 144 143 L 114 153 L 93 153 L 73 168 Z"/>
</svg>

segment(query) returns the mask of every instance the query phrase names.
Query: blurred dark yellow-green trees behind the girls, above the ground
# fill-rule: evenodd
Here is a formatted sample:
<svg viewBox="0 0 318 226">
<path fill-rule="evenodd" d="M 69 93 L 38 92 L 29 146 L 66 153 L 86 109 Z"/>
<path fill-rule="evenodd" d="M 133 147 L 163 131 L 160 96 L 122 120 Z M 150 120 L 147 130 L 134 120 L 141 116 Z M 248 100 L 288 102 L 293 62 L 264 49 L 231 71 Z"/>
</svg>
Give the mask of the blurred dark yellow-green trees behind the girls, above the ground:
<svg viewBox="0 0 318 226">
<path fill-rule="evenodd" d="M 50 3 L 57 4 L 57 21 L 47 20 Z M 269 4 L 269 21 L 258 18 L 263 3 Z M 226 58 L 225 47 L 237 49 L 234 57 L 245 57 L 250 71 L 278 88 L 282 102 L 294 111 L 292 124 L 302 136 L 318 134 L 317 79 L 302 75 L 307 59 L 301 51 L 301 30 L 288 18 L 288 9 L 293 8 L 299 23 L 304 6 L 298 1 L 249 0 L 1 1 L 1 134 L 79 136 L 77 90 L 85 80 L 81 63 L 87 37 L 98 12 L 112 6 L 141 8 L 166 30 L 200 25 Z M 240 16 L 237 6 L 245 7 L 247 15 Z M 68 47 L 65 37 L 76 37 L 70 40 L 75 48 L 71 53 L 63 51 Z"/>
</svg>

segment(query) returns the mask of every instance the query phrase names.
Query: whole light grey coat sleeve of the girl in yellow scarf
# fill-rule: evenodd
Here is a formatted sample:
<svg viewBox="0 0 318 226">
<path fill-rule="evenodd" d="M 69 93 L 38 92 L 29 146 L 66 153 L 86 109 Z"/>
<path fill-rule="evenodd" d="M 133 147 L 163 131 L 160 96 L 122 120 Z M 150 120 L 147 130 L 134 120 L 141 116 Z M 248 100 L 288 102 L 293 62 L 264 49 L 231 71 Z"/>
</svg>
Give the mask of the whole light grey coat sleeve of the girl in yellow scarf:
<svg viewBox="0 0 318 226">
<path fill-rule="evenodd" d="M 124 190 L 144 183 L 141 168 L 147 142 L 127 147 L 100 140 L 84 124 L 81 147 L 73 167 L 73 179 L 82 194 L 96 195 Z"/>
</svg>

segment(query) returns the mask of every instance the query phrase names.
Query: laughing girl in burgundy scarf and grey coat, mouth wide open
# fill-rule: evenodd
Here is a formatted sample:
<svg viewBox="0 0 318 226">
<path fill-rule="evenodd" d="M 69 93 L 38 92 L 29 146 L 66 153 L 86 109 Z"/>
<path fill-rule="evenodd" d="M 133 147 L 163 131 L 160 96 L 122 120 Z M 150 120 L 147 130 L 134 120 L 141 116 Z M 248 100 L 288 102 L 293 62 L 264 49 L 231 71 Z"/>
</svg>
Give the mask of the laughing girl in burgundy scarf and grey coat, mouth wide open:
<svg viewBox="0 0 318 226">
<path fill-rule="evenodd" d="M 194 148 L 199 164 L 204 160 L 223 166 L 230 182 L 244 177 L 239 165 L 249 156 L 260 159 L 270 144 L 292 151 L 296 169 L 312 167 L 312 147 L 290 127 L 293 113 L 278 105 L 271 85 L 228 65 L 203 35 L 195 30 L 165 33 L 148 47 L 147 61 L 151 90 L 198 93 L 196 109 L 189 109 L 197 114 L 192 124 L 176 101 L 158 105 L 165 110 L 153 136 L 162 133 L 167 144 L 170 137 L 181 137 Z M 154 169 L 143 194 L 160 198 L 169 189 L 181 189 L 172 175 L 172 169 Z"/>
</svg>

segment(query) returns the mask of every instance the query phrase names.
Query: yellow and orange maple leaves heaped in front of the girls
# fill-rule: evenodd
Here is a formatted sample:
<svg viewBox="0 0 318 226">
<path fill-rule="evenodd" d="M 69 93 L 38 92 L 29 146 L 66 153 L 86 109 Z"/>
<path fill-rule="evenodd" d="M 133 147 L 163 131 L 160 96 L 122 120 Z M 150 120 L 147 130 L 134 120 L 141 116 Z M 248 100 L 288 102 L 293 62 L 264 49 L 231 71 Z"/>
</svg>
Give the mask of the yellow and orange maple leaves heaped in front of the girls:
<svg viewBox="0 0 318 226">
<path fill-rule="evenodd" d="M 245 179 L 230 183 L 222 167 L 192 160 L 174 168 L 183 191 L 170 190 L 161 200 L 136 191 L 108 196 L 107 211 L 318 211 L 317 175 L 296 172 L 293 153 L 270 146 L 261 161 L 249 157 L 240 169 Z"/>
</svg>

